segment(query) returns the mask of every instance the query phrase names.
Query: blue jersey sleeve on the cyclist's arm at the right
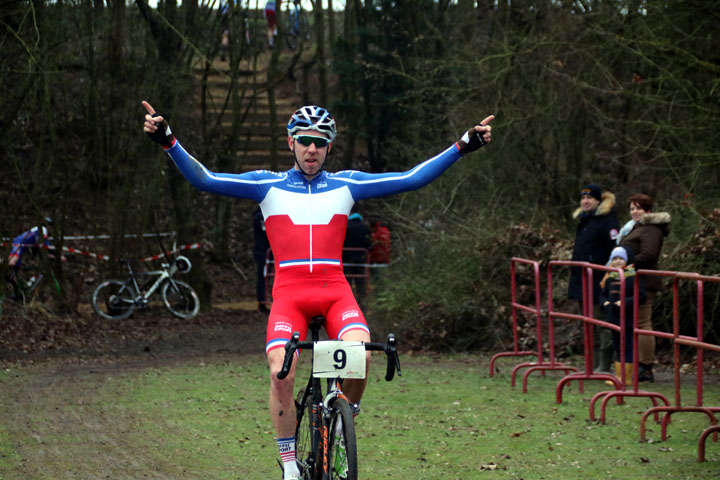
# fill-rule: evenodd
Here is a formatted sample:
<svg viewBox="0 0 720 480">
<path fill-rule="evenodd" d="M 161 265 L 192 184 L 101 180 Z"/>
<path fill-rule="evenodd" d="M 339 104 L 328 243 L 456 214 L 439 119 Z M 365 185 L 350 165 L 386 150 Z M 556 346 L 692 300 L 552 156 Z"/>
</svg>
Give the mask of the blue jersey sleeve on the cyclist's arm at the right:
<svg viewBox="0 0 720 480">
<path fill-rule="evenodd" d="M 346 182 L 353 198 L 382 197 L 395 193 L 417 190 L 429 184 L 461 157 L 453 144 L 444 152 L 425 160 L 407 172 L 366 173 L 346 170 L 334 175 L 336 180 Z"/>
</svg>

